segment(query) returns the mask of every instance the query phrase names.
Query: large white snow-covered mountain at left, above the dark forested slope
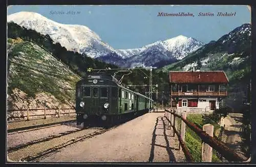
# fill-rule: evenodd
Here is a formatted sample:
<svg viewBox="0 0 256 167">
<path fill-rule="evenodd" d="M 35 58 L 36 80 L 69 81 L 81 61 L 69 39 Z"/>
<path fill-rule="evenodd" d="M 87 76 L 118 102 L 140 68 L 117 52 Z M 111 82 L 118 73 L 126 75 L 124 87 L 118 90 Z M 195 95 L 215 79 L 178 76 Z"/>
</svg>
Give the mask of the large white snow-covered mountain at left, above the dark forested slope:
<svg viewBox="0 0 256 167">
<path fill-rule="evenodd" d="M 86 53 L 91 58 L 115 51 L 84 25 L 60 24 L 34 12 L 14 13 L 8 15 L 7 21 L 13 21 L 43 35 L 48 34 L 54 42 L 60 43 L 67 50 Z"/>
</svg>

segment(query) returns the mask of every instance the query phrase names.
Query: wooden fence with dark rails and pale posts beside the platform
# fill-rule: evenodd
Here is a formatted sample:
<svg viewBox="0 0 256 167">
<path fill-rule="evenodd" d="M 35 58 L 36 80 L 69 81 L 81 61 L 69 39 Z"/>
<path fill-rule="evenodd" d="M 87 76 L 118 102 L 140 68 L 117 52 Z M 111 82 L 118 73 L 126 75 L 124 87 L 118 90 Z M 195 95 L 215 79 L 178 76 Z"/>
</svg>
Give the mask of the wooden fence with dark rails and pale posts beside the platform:
<svg viewBox="0 0 256 167">
<path fill-rule="evenodd" d="M 186 159 L 189 162 L 193 162 L 193 157 L 190 155 L 186 145 L 185 145 L 185 128 L 186 126 L 193 130 L 202 140 L 202 162 L 211 162 L 212 157 L 212 148 L 214 148 L 221 156 L 223 156 L 228 161 L 233 162 L 245 162 L 246 157 L 242 157 L 235 153 L 232 149 L 228 148 L 223 142 L 219 141 L 216 137 L 213 136 L 214 126 L 210 124 L 206 124 L 203 126 L 203 129 L 200 129 L 194 123 L 191 123 L 186 120 L 186 113 L 182 112 L 181 115 L 176 114 L 175 110 L 170 112 L 165 109 L 165 117 L 169 125 L 174 129 L 174 133 L 178 136 L 180 142 L 180 150 L 182 150 L 186 156 Z M 175 119 L 181 119 L 180 133 L 177 131 L 175 127 Z M 174 136 L 174 134 L 173 134 Z"/>
</svg>

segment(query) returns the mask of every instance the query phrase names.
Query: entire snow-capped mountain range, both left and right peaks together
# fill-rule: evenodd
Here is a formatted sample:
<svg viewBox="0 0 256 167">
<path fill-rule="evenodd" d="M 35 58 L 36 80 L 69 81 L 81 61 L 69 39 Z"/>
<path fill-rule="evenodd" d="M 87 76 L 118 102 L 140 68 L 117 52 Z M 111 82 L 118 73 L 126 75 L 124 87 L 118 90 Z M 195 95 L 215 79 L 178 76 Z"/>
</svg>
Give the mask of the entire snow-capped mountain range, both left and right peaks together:
<svg viewBox="0 0 256 167">
<path fill-rule="evenodd" d="M 60 43 L 67 50 L 86 53 L 91 58 L 120 67 L 133 67 L 138 64 L 161 67 L 183 59 L 188 53 L 204 45 L 194 38 L 178 36 L 165 41 L 157 41 L 141 48 L 114 49 L 84 25 L 57 23 L 33 12 L 18 12 L 8 15 L 7 21 L 13 21 L 43 35 L 48 34 L 54 42 Z"/>
</svg>

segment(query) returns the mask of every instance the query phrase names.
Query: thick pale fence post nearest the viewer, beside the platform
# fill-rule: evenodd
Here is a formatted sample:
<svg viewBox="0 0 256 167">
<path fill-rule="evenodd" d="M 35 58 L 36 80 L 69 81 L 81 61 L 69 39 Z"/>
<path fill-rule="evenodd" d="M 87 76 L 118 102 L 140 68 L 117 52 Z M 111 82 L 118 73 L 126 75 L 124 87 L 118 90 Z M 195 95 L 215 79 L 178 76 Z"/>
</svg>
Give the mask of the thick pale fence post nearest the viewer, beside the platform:
<svg viewBox="0 0 256 167">
<path fill-rule="evenodd" d="M 205 131 L 210 136 L 214 136 L 214 126 L 211 124 L 205 124 L 203 126 L 203 131 Z M 206 144 L 202 143 L 202 162 L 211 162 L 212 148 Z"/>
</svg>

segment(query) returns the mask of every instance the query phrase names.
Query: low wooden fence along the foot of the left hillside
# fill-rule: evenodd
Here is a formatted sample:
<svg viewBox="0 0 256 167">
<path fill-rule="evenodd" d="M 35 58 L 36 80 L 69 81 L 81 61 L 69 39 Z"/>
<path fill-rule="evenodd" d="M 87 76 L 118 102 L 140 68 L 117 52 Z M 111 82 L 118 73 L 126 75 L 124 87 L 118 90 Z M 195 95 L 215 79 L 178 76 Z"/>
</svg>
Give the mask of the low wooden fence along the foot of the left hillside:
<svg viewBox="0 0 256 167">
<path fill-rule="evenodd" d="M 54 111 L 52 113 L 52 111 Z M 36 108 L 8 110 L 7 120 L 30 120 L 30 119 L 46 119 L 50 117 L 72 116 L 76 114 L 74 108 Z M 49 117 L 48 117 L 49 118 Z"/>
</svg>

